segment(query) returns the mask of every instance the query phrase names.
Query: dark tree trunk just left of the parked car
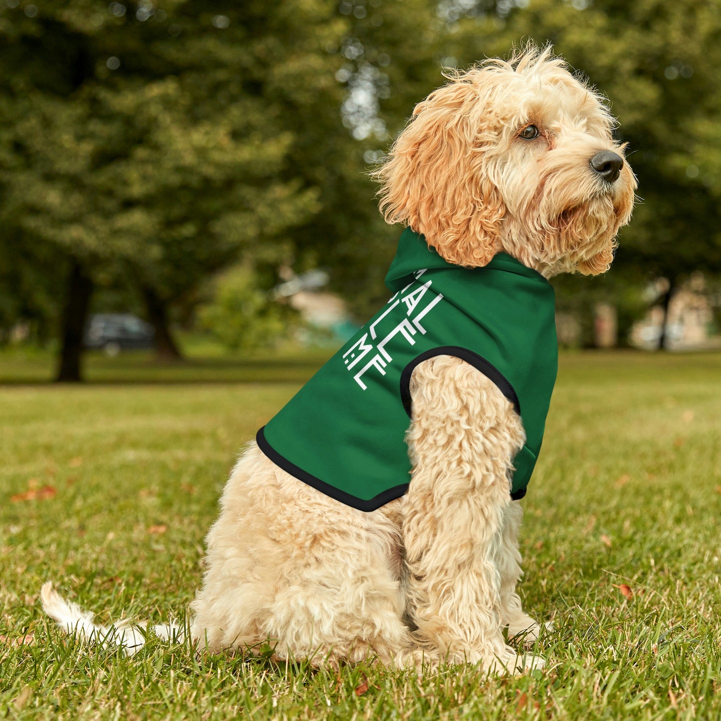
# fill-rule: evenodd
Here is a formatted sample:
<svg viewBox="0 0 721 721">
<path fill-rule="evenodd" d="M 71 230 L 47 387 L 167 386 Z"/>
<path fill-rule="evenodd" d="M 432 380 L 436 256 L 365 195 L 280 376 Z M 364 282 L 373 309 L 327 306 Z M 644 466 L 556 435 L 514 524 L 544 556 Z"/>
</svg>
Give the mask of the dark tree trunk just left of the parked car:
<svg viewBox="0 0 721 721">
<path fill-rule="evenodd" d="M 87 322 L 93 283 L 76 260 L 70 269 L 68 289 L 61 319 L 61 351 L 56 381 L 79 383 L 83 332 Z"/>
</svg>

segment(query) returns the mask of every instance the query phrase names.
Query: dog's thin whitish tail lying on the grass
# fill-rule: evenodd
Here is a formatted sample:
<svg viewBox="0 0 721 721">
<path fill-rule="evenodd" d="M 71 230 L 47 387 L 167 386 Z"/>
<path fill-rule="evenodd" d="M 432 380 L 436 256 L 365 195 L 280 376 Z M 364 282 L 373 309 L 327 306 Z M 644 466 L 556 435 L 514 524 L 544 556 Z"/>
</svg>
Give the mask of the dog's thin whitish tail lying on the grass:
<svg viewBox="0 0 721 721">
<path fill-rule="evenodd" d="M 99 643 L 103 648 L 120 647 L 126 655 L 137 653 L 146 640 L 147 624 L 132 624 L 128 620 L 110 626 L 98 626 L 93 623 L 94 614 L 83 611 L 77 603 L 66 601 L 54 588 L 53 582 L 43 583 L 40 589 L 40 601 L 43 611 L 55 621 L 63 631 L 76 637 Z M 152 627 L 156 636 L 166 641 L 182 641 L 185 629 L 178 624 L 160 624 Z"/>
</svg>

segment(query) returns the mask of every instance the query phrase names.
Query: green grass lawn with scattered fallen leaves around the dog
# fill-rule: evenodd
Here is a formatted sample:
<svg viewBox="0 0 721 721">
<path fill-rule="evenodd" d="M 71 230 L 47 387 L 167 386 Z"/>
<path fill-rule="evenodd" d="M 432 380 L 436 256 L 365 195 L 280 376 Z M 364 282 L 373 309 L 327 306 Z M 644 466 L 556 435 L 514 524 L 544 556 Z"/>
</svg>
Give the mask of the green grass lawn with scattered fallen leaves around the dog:
<svg viewBox="0 0 721 721">
<path fill-rule="evenodd" d="M 46 360 L 0 357 L 16 381 L 0 387 L 0 717 L 721 718 L 720 354 L 562 356 L 521 502 L 521 595 L 555 622 L 547 668 L 420 680 L 156 639 L 128 659 L 43 619 L 48 579 L 100 622 L 182 619 L 239 447 L 320 361 L 138 358 L 95 358 L 97 382 L 56 387 L 27 382 Z"/>
</svg>

